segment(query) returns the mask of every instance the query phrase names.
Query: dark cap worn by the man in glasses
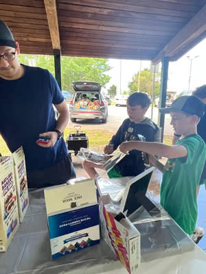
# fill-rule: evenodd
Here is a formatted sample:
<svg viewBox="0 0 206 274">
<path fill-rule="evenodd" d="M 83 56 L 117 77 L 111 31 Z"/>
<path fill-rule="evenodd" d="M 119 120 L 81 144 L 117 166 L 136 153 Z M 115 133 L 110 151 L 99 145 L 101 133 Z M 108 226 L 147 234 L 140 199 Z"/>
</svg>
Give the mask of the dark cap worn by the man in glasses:
<svg viewBox="0 0 206 274">
<path fill-rule="evenodd" d="M 14 47 L 16 49 L 16 43 L 14 36 L 10 29 L 3 21 L 0 20 L 0 46 Z"/>
</svg>

